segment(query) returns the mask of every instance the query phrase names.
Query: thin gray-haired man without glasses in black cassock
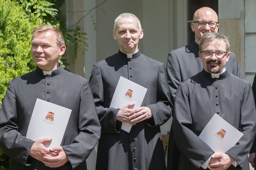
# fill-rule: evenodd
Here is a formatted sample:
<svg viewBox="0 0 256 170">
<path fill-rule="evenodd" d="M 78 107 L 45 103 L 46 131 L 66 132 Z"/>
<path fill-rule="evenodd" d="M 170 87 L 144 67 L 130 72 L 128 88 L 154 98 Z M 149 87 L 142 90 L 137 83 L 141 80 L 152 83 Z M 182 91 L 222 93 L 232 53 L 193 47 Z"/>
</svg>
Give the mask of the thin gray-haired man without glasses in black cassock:
<svg viewBox="0 0 256 170">
<path fill-rule="evenodd" d="M 101 124 L 96 169 L 166 169 L 160 125 L 171 107 L 164 64 L 138 50 L 143 30 L 133 14 L 116 18 L 113 36 L 119 51 L 94 64 L 90 77 Z M 120 76 L 147 88 L 141 107 L 109 108 Z M 132 125 L 129 133 L 121 130 L 122 122 Z"/>
</svg>

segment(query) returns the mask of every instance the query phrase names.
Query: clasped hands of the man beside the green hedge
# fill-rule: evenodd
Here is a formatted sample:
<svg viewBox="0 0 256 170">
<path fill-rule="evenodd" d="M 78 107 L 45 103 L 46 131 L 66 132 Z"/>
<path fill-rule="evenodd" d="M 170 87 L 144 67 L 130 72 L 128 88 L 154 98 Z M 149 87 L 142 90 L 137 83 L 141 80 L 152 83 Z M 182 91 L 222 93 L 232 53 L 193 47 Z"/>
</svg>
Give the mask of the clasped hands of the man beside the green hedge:
<svg viewBox="0 0 256 170">
<path fill-rule="evenodd" d="M 29 155 L 48 167 L 60 167 L 68 162 L 68 157 L 62 147 L 48 149 L 44 146 L 44 142 L 50 142 L 51 140 L 52 138 L 45 138 L 35 141 Z"/>
</svg>

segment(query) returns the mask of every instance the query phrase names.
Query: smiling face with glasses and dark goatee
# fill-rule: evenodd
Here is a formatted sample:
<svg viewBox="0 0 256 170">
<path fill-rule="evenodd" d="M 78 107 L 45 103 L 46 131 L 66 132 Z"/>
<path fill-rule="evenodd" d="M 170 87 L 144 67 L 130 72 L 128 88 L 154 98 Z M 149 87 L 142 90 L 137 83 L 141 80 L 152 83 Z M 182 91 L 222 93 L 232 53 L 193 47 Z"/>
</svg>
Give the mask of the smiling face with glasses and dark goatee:
<svg viewBox="0 0 256 170">
<path fill-rule="evenodd" d="M 205 43 L 202 46 L 202 51 L 227 51 L 226 45 L 223 40 L 218 42 L 211 41 L 209 43 Z M 203 63 L 205 70 L 210 73 L 221 73 L 224 70 L 226 62 L 228 62 L 228 58 L 230 56 L 230 52 L 225 53 L 222 57 L 216 57 L 213 54 L 211 57 L 205 57 L 203 52 L 199 52 L 200 61 Z"/>
</svg>

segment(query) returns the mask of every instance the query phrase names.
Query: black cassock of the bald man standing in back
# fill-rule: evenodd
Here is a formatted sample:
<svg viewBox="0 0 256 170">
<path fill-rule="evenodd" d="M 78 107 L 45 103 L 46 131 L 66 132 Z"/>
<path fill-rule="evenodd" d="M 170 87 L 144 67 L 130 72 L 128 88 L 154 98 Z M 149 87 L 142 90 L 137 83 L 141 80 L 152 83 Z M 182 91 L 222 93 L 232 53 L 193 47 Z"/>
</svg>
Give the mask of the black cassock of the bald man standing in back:
<svg viewBox="0 0 256 170">
<path fill-rule="evenodd" d="M 174 103 L 176 90 L 179 84 L 193 75 L 201 72 L 203 69 L 203 64 L 200 61 L 198 52 L 199 46 L 196 41 L 194 41 L 187 46 L 172 50 L 169 53 L 166 71 L 171 94 L 170 99 L 172 103 Z M 230 73 L 242 78 L 241 69 L 237 62 L 236 54 L 233 52 L 230 52 L 230 57 L 225 67 Z M 168 146 L 168 170 L 177 169 L 179 164 L 179 150 L 175 144 L 172 131 L 173 129 L 171 127 Z"/>
</svg>

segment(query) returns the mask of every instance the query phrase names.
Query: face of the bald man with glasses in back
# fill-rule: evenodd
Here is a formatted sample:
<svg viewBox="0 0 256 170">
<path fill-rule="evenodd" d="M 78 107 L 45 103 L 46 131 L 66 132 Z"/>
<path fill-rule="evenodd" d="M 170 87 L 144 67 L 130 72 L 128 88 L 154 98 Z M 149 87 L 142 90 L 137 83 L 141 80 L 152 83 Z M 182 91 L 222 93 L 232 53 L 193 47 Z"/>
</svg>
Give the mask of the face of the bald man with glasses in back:
<svg viewBox="0 0 256 170">
<path fill-rule="evenodd" d="M 218 22 L 218 16 L 212 8 L 202 7 L 195 12 L 193 21 Z M 203 36 L 203 33 L 217 32 L 218 28 L 219 28 L 218 23 L 214 28 L 209 27 L 209 24 L 206 24 L 205 26 L 199 26 L 198 23 L 191 23 L 191 29 L 193 32 L 195 32 L 195 39 L 197 44 L 199 44 L 199 41 Z"/>
</svg>

